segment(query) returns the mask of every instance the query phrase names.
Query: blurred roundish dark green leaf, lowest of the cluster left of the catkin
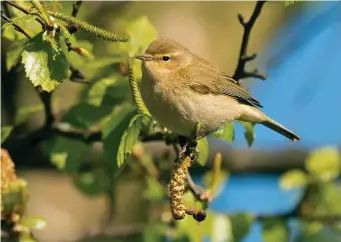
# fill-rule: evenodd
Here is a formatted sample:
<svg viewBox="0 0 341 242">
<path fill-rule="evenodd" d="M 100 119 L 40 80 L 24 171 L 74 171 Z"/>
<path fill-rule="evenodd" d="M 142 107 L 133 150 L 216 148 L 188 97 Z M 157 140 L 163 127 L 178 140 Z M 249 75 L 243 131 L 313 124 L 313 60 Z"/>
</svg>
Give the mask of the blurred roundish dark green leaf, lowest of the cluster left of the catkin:
<svg viewBox="0 0 341 242">
<path fill-rule="evenodd" d="M 110 187 L 108 177 L 102 169 L 77 173 L 73 181 L 83 193 L 89 196 L 105 194 Z"/>
</svg>

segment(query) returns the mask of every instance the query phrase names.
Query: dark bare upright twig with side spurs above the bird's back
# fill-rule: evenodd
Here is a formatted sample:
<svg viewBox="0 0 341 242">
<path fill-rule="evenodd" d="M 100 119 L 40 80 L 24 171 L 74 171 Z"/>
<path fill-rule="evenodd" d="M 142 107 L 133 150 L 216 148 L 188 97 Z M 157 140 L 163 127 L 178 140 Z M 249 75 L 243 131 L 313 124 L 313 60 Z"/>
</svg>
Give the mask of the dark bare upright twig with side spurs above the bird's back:
<svg viewBox="0 0 341 242">
<path fill-rule="evenodd" d="M 262 80 L 266 79 L 264 75 L 259 74 L 256 71 L 250 72 L 250 71 L 245 70 L 246 63 L 248 61 L 254 60 L 257 56 L 256 54 L 247 55 L 247 46 L 249 43 L 252 27 L 254 26 L 257 18 L 259 17 L 260 12 L 265 2 L 266 1 L 258 1 L 256 3 L 256 6 L 253 10 L 251 18 L 247 22 L 245 22 L 242 15 L 238 14 L 238 20 L 244 28 L 244 34 L 243 34 L 243 39 L 242 39 L 242 43 L 240 46 L 238 65 L 233 75 L 233 79 L 235 79 L 236 81 L 239 81 L 240 79 L 247 78 L 247 77 L 255 77 L 255 78 L 262 79 Z"/>
</svg>

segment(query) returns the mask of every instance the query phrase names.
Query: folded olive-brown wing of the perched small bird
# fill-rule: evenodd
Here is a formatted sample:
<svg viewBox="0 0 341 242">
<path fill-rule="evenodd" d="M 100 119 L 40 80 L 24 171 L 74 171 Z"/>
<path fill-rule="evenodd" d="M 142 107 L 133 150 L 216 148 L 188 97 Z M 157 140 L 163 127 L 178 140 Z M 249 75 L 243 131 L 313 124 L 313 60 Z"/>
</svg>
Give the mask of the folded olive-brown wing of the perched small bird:
<svg viewBox="0 0 341 242">
<path fill-rule="evenodd" d="M 191 73 L 191 75 L 187 73 Z M 239 86 L 232 77 L 207 63 L 186 66 L 186 70 L 180 70 L 180 74 L 185 77 L 182 79 L 186 80 L 186 84 L 190 88 L 202 94 L 227 95 L 242 103 L 263 107 L 248 91 Z"/>
</svg>

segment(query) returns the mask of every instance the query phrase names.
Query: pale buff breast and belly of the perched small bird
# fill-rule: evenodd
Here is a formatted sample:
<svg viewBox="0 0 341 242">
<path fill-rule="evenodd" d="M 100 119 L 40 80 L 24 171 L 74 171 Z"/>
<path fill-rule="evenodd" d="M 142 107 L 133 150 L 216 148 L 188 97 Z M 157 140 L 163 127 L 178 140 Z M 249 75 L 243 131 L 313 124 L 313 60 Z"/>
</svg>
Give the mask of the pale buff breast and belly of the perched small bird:
<svg viewBox="0 0 341 242">
<path fill-rule="evenodd" d="M 167 129 L 190 136 L 200 123 L 200 136 L 206 136 L 239 115 L 239 104 L 233 98 L 201 94 L 176 81 L 158 82 L 144 76 L 141 95 L 152 116 Z"/>
</svg>

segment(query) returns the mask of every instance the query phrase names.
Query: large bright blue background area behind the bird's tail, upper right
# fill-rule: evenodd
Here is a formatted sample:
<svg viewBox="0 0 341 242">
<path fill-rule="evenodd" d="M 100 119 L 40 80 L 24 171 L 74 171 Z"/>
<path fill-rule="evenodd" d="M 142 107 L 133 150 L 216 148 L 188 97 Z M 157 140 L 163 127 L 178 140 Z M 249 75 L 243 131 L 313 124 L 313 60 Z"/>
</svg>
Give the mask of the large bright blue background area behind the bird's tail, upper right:
<svg viewBox="0 0 341 242">
<path fill-rule="evenodd" d="M 251 93 L 302 140 L 293 144 L 257 125 L 256 149 L 341 144 L 341 2 L 298 4 L 303 9 L 288 16 L 268 49 L 258 53 L 257 66 L 268 79 L 252 82 Z M 243 129 L 236 126 L 235 145 L 245 147 Z"/>
</svg>

